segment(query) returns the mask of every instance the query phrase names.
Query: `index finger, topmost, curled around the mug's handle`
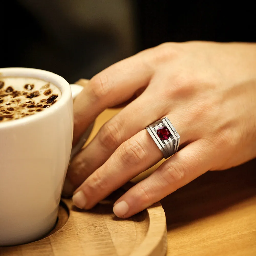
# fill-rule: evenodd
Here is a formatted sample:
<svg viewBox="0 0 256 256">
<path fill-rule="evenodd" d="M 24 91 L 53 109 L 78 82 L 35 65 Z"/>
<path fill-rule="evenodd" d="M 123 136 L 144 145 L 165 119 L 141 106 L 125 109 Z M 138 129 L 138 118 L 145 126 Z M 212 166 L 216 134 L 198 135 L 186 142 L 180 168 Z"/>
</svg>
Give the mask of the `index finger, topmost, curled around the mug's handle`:
<svg viewBox="0 0 256 256">
<path fill-rule="evenodd" d="M 104 109 L 129 100 L 138 89 L 147 86 L 153 70 L 141 54 L 115 63 L 84 83 L 74 101 L 73 144 Z"/>
</svg>

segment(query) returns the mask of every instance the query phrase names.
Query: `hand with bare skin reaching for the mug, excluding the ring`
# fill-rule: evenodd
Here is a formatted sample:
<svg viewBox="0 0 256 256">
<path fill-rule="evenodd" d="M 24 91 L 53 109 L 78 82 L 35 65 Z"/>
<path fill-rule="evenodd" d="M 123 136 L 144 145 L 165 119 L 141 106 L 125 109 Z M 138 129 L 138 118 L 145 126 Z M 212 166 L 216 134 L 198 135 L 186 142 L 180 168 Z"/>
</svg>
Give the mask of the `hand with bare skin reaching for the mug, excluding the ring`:
<svg viewBox="0 0 256 256">
<path fill-rule="evenodd" d="M 179 151 L 115 202 L 118 217 L 136 214 L 208 170 L 256 156 L 255 44 L 165 43 L 115 63 L 74 102 L 74 143 L 99 113 L 134 95 L 70 164 L 64 192 L 76 189 L 77 207 L 92 208 L 163 158 L 145 130 L 163 117 L 180 135 Z"/>
</svg>

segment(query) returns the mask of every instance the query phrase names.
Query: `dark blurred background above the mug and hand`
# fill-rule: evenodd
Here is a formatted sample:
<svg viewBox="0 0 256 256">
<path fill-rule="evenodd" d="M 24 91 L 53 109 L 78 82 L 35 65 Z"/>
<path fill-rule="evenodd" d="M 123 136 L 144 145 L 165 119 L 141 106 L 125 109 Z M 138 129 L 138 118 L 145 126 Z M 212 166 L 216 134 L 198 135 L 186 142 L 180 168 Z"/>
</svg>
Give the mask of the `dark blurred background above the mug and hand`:
<svg viewBox="0 0 256 256">
<path fill-rule="evenodd" d="M 167 41 L 256 41 L 255 9 L 249 2 L 107 2 L 103 8 L 103 2 L 93 0 L 4 1 L 0 67 L 45 69 L 72 83 Z M 81 17 L 91 15 L 89 7 L 94 12 L 88 26 L 79 23 L 76 15 L 72 18 L 75 7 L 80 15 L 84 11 Z M 106 15 L 110 21 L 94 22 L 93 17 L 97 20 L 102 15 L 102 8 L 103 14 L 110 13 L 110 17 Z"/>
</svg>

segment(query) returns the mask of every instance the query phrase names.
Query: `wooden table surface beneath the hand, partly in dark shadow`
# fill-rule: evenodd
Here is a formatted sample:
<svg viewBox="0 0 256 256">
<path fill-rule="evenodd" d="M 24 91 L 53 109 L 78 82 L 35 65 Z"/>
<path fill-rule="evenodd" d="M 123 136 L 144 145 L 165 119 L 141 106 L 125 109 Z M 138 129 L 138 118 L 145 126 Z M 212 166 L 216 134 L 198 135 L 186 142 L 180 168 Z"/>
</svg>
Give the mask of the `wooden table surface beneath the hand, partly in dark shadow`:
<svg viewBox="0 0 256 256">
<path fill-rule="evenodd" d="M 99 115 L 89 141 L 118 111 Z M 229 170 L 207 172 L 161 204 L 167 221 L 167 255 L 256 255 L 256 159 Z"/>
</svg>

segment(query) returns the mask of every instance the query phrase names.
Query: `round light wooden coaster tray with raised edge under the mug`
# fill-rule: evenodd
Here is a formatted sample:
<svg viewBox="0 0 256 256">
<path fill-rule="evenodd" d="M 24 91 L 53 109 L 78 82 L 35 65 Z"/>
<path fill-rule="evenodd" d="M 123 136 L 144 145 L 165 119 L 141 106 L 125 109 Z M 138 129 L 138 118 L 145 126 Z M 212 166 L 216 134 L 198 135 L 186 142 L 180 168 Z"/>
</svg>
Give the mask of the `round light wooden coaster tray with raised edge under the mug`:
<svg viewBox="0 0 256 256">
<path fill-rule="evenodd" d="M 159 202 L 129 219 L 119 219 L 113 203 L 125 192 L 115 191 L 93 209 L 76 208 L 62 199 L 56 227 L 41 240 L 0 247 L 1 256 L 163 256 L 167 249 L 166 219 Z"/>
</svg>

